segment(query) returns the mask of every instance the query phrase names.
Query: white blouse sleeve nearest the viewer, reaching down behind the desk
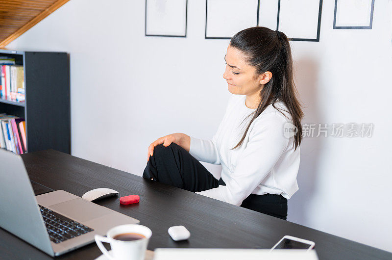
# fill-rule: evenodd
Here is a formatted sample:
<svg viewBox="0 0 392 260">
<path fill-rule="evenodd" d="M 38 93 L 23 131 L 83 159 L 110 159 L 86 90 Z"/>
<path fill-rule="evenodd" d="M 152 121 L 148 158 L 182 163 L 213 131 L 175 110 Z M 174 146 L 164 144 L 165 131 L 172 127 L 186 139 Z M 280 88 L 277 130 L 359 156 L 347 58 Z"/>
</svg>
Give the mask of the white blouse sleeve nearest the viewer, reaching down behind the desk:
<svg viewBox="0 0 392 260">
<path fill-rule="evenodd" d="M 237 160 L 236 168 L 226 186 L 196 192 L 198 194 L 240 206 L 263 181 L 283 154 L 289 139 L 283 135 L 287 121 L 276 114 L 263 115 L 250 130 L 246 148 Z"/>
</svg>

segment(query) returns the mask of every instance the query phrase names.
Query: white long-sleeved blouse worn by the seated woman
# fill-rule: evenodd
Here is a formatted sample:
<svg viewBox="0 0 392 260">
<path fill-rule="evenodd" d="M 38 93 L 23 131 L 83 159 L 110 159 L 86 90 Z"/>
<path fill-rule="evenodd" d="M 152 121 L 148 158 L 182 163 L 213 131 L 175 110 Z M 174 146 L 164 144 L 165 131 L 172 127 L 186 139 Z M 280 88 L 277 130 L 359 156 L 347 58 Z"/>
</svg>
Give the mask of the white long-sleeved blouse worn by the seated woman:
<svg viewBox="0 0 392 260">
<path fill-rule="evenodd" d="M 281 194 L 290 199 L 298 190 L 296 177 L 300 157 L 299 147 L 294 151 L 294 136 L 284 135 L 284 128 L 292 126 L 291 115 L 279 100 L 275 106 L 289 119 L 269 105 L 252 122 L 242 145 L 230 150 L 241 140 L 253 115 L 243 120 L 256 110 L 248 108 L 245 99 L 244 95 L 230 97 L 212 139 L 191 136 L 189 153 L 199 161 L 221 164 L 221 178 L 226 183 L 226 186 L 196 193 L 237 206 L 251 193 Z"/>
</svg>

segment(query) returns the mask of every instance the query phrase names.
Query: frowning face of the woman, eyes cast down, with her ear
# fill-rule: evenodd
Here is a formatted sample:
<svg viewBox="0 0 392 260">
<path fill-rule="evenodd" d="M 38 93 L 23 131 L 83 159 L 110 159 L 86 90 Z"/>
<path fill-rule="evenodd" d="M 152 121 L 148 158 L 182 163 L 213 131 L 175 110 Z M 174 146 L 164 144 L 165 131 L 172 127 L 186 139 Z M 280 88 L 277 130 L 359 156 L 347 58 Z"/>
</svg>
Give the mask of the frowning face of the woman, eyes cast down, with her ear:
<svg viewBox="0 0 392 260">
<path fill-rule="evenodd" d="M 272 77 L 270 72 L 255 77 L 256 68 L 247 64 L 245 55 L 230 45 L 227 47 L 225 62 L 223 78 L 226 79 L 228 90 L 232 94 L 258 95 L 260 89 Z"/>
</svg>

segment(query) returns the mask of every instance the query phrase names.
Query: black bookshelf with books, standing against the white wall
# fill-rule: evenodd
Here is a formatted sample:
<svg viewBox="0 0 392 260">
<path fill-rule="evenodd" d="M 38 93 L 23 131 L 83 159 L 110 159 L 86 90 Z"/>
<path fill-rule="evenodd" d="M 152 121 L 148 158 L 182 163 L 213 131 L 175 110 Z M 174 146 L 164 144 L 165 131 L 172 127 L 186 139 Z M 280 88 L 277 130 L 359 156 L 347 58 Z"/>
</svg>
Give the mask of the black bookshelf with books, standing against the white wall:
<svg viewBox="0 0 392 260">
<path fill-rule="evenodd" d="M 71 153 L 70 63 L 66 52 L 0 50 L 25 71 L 25 102 L 0 99 L 0 113 L 25 118 L 27 152 Z"/>
</svg>

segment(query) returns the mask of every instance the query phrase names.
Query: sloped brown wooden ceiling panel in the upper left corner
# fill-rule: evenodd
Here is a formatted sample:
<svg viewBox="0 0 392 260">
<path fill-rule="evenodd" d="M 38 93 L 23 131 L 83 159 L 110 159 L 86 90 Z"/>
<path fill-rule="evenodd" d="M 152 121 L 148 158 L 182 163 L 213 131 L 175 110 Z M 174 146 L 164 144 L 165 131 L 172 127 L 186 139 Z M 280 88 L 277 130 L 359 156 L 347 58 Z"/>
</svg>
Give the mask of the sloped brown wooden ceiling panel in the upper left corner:
<svg viewBox="0 0 392 260">
<path fill-rule="evenodd" d="M 69 0 L 0 0 L 0 48 Z"/>
</svg>

